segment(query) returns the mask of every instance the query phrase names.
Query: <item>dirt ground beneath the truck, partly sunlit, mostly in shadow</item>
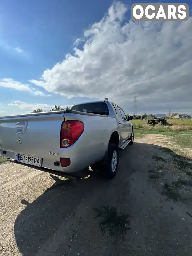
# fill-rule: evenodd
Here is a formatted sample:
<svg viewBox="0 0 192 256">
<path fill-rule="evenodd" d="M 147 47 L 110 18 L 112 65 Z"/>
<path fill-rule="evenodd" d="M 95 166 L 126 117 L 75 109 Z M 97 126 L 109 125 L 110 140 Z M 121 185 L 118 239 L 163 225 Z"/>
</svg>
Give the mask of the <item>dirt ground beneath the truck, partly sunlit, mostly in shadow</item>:
<svg viewBox="0 0 192 256">
<path fill-rule="evenodd" d="M 167 147 L 136 139 L 109 181 L 1 164 L 0 255 L 192 255 L 191 160 Z"/>
</svg>

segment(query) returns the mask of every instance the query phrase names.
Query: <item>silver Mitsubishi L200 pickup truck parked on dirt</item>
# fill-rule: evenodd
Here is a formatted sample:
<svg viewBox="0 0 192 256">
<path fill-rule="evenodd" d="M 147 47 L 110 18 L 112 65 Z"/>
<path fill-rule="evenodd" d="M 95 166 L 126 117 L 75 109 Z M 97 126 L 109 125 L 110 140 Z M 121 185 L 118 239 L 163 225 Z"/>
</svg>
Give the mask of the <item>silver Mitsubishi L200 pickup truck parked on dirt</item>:
<svg viewBox="0 0 192 256">
<path fill-rule="evenodd" d="M 108 99 L 65 111 L 0 117 L 0 155 L 69 178 L 96 164 L 110 179 L 119 149 L 133 144 L 132 119 Z"/>
</svg>

